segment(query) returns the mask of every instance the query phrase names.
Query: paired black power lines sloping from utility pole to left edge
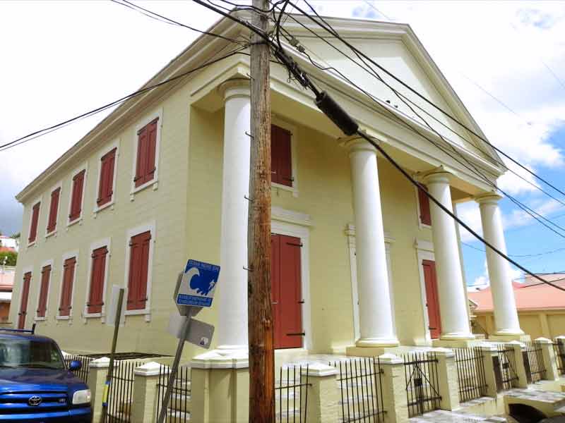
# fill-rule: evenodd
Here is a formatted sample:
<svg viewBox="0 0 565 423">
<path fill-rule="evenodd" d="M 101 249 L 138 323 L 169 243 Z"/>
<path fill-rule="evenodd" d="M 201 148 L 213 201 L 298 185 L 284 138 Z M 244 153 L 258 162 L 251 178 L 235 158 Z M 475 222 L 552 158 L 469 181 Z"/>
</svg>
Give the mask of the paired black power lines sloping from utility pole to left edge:
<svg viewBox="0 0 565 423">
<path fill-rule="evenodd" d="M 210 60 L 210 61 L 208 61 L 208 62 L 206 62 L 206 63 L 203 63 L 203 65 L 201 65 L 201 66 L 196 66 L 196 68 L 192 68 L 192 69 L 190 69 L 189 71 L 186 71 L 186 72 L 184 72 L 184 73 L 181 73 L 181 74 L 179 74 L 179 75 L 177 75 L 177 76 L 174 76 L 174 77 L 169 78 L 169 79 L 167 79 L 167 80 L 163 80 L 162 82 L 159 82 L 159 83 L 157 83 L 157 84 L 155 84 L 155 85 L 150 85 L 149 87 L 142 88 L 141 90 L 132 92 L 131 94 L 127 94 L 126 96 L 121 97 L 121 98 L 119 98 L 119 99 L 117 99 L 117 100 L 114 100 L 113 102 L 109 102 L 109 103 L 105 104 L 104 106 L 97 107 L 96 109 L 87 111 L 87 112 L 85 112 L 85 113 L 83 113 L 83 114 L 80 114 L 80 115 L 78 115 L 78 116 L 74 116 L 73 118 L 69 118 L 69 119 L 67 119 L 66 121 L 57 123 L 57 124 L 52 125 L 52 126 L 49 126 L 49 127 L 47 127 L 47 128 L 43 128 L 43 129 L 40 129 L 40 130 L 36 130 L 36 131 L 34 131 L 34 132 L 32 132 L 32 133 L 29 133 L 28 135 L 24 135 L 23 137 L 19 137 L 18 139 L 13 140 L 13 141 L 11 141 L 11 142 L 6 142 L 6 144 L 0 145 L 0 152 L 5 151 L 6 149 L 10 149 L 10 148 L 16 147 L 16 145 L 21 145 L 21 144 L 23 144 L 23 143 L 25 143 L 25 142 L 34 140 L 36 137 L 39 137 L 39 136 L 44 135 L 44 134 L 46 134 L 46 133 L 50 133 L 50 132 L 52 132 L 53 130 L 57 130 L 57 129 L 59 129 L 59 128 L 62 128 L 62 127 L 64 127 L 64 126 L 68 125 L 69 123 L 72 123 L 72 122 L 74 122 L 74 121 L 78 121 L 79 119 L 82 119 L 82 118 L 85 118 L 85 117 L 89 117 L 89 116 L 93 116 L 93 115 L 95 115 L 95 114 L 98 114 L 98 113 L 100 113 L 101 111 L 104 111 L 104 110 L 106 110 L 106 109 L 110 109 L 110 108 L 112 108 L 113 106 L 117 106 L 118 104 L 121 104 L 121 103 L 123 103 L 123 102 L 126 102 L 127 100 L 129 100 L 129 99 L 131 99 L 131 98 L 133 98 L 133 97 L 137 97 L 137 96 L 140 95 L 140 94 L 143 94 L 143 93 L 148 92 L 148 91 L 150 91 L 150 90 L 154 90 L 155 88 L 161 87 L 162 85 L 168 84 L 169 82 L 173 82 L 173 81 L 175 81 L 175 80 L 179 80 L 180 78 L 184 78 L 186 75 L 190 75 L 190 74 L 193 73 L 193 72 L 200 71 L 201 69 L 206 68 L 206 66 L 213 65 L 214 63 L 218 63 L 219 61 L 222 61 L 222 60 L 224 60 L 224 59 L 227 59 L 228 57 L 231 57 L 231 56 L 234 56 L 234 55 L 236 55 L 236 54 L 239 54 L 240 51 L 246 49 L 247 47 L 248 47 L 248 46 L 239 47 L 239 48 L 237 48 L 237 49 L 234 49 L 234 50 L 230 51 L 229 53 L 225 54 L 224 56 L 221 56 L 221 57 L 218 58 L 218 59 L 212 59 L 212 60 Z"/>
</svg>

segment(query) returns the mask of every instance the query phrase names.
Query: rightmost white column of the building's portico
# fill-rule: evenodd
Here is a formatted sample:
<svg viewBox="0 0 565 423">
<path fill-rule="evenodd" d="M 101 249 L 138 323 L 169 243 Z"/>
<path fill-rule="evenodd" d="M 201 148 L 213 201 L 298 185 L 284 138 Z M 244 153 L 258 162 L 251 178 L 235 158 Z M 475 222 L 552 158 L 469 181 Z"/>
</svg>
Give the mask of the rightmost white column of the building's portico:
<svg viewBox="0 0 565 423">
<path fill-rule="evenodd" d="M 502 219 L 499 208 L 500 196 L 492 192 L 478 197 L 481 211 L 482 233 L 484 239 L 497 250 L 506 254 L 506 242 L 502 230 Z M 492 303 L 494 305 L 494 322 L 497 336 L 523 335 L 516 311 L 516 300 L 510 277 L 509 262 L 494 252 L 490 247 L 487 250 L 487 267 L 489 271 Z"/>
</svg>

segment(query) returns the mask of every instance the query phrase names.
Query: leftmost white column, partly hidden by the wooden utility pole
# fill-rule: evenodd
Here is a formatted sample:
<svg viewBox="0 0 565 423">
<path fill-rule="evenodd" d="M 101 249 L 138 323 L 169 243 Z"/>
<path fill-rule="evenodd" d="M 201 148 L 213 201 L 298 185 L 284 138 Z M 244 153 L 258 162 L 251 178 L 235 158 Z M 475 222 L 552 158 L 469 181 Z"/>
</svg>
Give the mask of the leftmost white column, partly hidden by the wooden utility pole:
<svg viewBox="0 0 565 423">
<path fill-rule="evenodd" d="M 247 209 L 251 107 L 249 80 L 220 87 L 225 99 L 218 349 L 247 348 Z"/>
</svg>

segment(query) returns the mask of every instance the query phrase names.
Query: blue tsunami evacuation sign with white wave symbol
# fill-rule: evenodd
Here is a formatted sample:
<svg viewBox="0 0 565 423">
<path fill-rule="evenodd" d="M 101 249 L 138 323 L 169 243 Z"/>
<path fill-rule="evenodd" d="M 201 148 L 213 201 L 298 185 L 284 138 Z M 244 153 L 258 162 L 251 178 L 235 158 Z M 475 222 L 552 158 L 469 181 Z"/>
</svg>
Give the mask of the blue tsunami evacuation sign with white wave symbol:
<svg viewBox="0 0 565 423">
<path fill-rule="evenodd" d="M 177 304 L 210 307 L 219 275 L 220 266 L 189 260 L 182 276 Z"/>
</svg>

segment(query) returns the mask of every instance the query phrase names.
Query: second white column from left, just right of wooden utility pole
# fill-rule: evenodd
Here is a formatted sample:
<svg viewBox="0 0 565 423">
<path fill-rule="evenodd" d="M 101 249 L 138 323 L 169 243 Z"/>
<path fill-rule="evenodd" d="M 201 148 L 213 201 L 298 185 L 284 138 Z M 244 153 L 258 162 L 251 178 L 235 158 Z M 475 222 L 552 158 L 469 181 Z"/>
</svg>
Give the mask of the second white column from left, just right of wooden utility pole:
<svg viewBox="0 0 565 423">
<path fill-rule="evenodd" d="M 359 288 L 358 347 L 398 345 L 394 332 L 391 294 L 388 287 L 386 250 L 376 149 L 364 140 L 350 140 L 357 286 Z"/>
</svg>

